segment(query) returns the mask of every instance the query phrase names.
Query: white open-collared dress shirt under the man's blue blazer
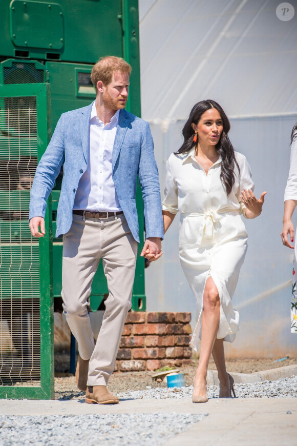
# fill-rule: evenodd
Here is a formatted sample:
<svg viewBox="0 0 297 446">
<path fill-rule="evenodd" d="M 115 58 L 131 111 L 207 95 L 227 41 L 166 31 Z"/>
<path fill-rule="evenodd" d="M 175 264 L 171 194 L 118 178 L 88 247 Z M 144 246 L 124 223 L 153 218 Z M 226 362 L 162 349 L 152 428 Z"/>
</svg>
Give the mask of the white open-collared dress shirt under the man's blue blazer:
<svg viewBox="0 0 297 446">
<path fill-rule="evenodd" d="M 117 131 L 119 110 L 104 126 L 97 116 L 95 102 L 90 118 L 89 161 L 79 180 L 73 209 L 121 211 L 112 178 L 112 152 Z"/>
</svg>

